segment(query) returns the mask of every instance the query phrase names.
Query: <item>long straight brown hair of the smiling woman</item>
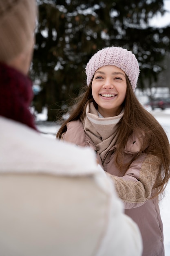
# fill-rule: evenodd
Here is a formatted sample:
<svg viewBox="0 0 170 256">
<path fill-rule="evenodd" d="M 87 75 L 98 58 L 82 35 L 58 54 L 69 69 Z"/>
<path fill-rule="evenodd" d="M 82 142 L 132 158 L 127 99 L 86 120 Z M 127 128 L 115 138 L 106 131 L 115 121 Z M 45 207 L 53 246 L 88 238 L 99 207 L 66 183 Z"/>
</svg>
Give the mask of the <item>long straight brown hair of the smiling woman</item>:
<svg viewBox="0 0 170 256">
<path fill-rule="evenodd" d="M 85 92 L 74 101 L 70 116 L 66 121 L 64 121 L 58 130 L 56 135 L 57 138 L 60 139 L 62 133 L 66 132 L 66 124 L 68 122 L 84 119 L 86 115 L 86 106 L 89 102 L 93 102 L 97 108 L 97 104 L 92 96 L 92 81 L 88 87 L 86 85 Z M 127 76 L 126 83 L 126 97 L 122 106 L 124 107 L 124 116 L 119 121 L 120 126 L 117 137 L 118 146 L 115 151 L 115 164 L 119 169 L 125 167 L 123 164 L 124 148 L 129 136 L 132 135 L 132 133 L 135 133 L 136 135 L 143 135 L 144 139 L 141 138 L 142 143 L 140 151 L 134 155 L 130 162 L 126 164 L 126 168 L 128 168 L 130 164 L 142 153 L 159 157 L 161 164 L 159 166 L 159 173 L 157 175 L 155 186 L 153 187 L 157 189 L 155 195 L 158 195 L 163 192 L 170 178 L 170 144 L 162 126 L 138 101 L 132 91 L 132 87 Z"/>
</svg>

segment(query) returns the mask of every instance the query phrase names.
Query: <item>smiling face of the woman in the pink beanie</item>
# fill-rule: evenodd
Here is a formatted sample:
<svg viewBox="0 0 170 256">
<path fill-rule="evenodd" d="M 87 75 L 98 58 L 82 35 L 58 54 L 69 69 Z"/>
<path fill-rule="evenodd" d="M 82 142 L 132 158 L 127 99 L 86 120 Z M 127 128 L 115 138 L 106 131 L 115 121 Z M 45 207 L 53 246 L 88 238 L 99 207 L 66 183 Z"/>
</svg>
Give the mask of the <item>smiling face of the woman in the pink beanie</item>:
<svg viewBox="0 0 170 256">
<path fill-rule="evenodd" d="M 103 66 L 94 75 L 92 81 L 93 99 L 103 117 L 120 114 L 126 96 L 126 75 L 119 67 Z"/>
</svg>

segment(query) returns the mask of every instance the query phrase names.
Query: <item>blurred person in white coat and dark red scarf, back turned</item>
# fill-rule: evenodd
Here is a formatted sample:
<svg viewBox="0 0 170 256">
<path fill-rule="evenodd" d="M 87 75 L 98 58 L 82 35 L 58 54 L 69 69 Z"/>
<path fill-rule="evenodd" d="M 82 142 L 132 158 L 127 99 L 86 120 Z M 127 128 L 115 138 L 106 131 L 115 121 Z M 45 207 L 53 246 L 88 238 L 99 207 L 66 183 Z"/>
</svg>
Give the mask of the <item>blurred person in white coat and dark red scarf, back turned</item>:
<svg viewBox="0 0 170 256">
<path fill-rule="evenodd" d="M 141 256 L 139 229 L 93 152 L 36 130 L 35 19 L 35 0 L 0 0 L 0 255 Z"/>
</svg>

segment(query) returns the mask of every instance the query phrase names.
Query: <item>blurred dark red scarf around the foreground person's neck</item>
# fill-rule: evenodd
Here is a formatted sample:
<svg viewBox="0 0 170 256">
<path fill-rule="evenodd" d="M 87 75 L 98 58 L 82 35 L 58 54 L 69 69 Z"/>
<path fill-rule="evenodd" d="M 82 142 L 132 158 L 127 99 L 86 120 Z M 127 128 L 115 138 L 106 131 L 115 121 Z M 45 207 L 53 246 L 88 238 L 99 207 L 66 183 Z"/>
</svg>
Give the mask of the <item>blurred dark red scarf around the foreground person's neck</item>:
<svg viewBox="0 0 170 256">
<path fill-rule="evenodd" d="M 0 63 L 0 115 L 37 130 L 29 110 L 32 99 L 29 77 Z"/>
</svg>

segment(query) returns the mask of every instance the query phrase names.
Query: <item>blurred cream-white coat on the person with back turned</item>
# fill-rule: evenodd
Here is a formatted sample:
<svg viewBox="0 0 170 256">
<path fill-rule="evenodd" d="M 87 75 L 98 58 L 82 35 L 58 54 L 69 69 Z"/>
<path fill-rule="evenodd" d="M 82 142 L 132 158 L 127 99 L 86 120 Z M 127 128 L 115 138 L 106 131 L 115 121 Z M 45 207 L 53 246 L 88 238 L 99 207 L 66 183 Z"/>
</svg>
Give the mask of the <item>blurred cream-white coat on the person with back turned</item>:
<svg viewBox="0 0 170 256">
<path fill-rule="evenodd" d="M 93 154 L 0 117 L 1 256 L 141 256 Z"/>
</svg>

